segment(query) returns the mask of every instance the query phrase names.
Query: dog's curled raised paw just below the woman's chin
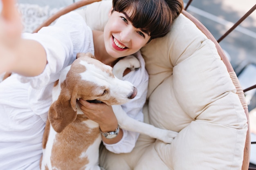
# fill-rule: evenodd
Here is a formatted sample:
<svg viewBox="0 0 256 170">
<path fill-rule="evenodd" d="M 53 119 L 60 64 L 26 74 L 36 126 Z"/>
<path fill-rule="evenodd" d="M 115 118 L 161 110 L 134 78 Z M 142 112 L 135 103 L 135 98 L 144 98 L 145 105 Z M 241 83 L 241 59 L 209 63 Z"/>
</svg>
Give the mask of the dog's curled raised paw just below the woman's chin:
<svg viewBox="0 0 256 170">
<path fill-rule="evenodd" d="M 119 63 L 123 68 L 130 68 L 131 70 L 136 70 L 140 67 L 139 60 L 133 55 L 124 57 L 122 60 L 119 60 Z"/>
</svg>

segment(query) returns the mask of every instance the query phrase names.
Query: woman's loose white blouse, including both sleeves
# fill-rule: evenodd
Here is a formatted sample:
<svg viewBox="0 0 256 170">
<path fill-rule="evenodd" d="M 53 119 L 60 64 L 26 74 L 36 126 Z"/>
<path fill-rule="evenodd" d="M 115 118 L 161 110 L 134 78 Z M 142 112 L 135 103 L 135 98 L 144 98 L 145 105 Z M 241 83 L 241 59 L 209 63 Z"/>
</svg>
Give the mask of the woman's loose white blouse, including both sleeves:
<svg viewBox="0 0 256 170">
<path fill-rule="evenodd" d="M 94 54 L 92 30 L 76 12 L 61 16 L 54 26 L 38 33 L 24 33 L 23 38 L 43 45 L 47 65 L 36 77 L 13 74 L 0 83 L 0 167 L 1 170 L 39 170 L 42 137 L 47 112 L 52 102 L 53 83 L 60 72 L 70 65 L 78 52 Z M 29 50 L 29 49 L 27 49 Z M 137 96 L 122 105 L 126 113 L 143 121 L 142 107 L 146 101 L 148 73 L 144 59 L 138 52 L 141 68 L 124 76 L 137 89 Z M 105 144 L 115 153 L 130 152 L 139 134 L 124 130 L 117 144 Z"/>
</svg>

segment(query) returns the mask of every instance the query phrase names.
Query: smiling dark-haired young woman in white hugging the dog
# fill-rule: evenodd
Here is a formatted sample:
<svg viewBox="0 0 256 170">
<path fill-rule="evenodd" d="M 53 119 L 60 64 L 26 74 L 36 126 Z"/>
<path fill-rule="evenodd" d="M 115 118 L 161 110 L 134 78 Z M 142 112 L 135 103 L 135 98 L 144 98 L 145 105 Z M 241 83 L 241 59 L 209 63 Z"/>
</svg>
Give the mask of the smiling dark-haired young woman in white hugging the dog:
<svg viewBox="0 0 256 170">
<path fill-rule="evenodd" d="M 0 166 L 3 170 L 36 170 L 42 154 L 42 135 L 52 100 L 52 86 L 63 68 L 78 52 L 91 52 L 114 66 L 120 57 L 134 54 L 141 62 L 139 71 L 124 79 L 138 94 L 123 108 L 129 116 L 143 121 L 148 75 L 139 49 L 170 30 L 183 8 L 182 0 L 113 0 L 104 32 L 91 30 L 76 12 L 58 19 L 38 33 L 21 32 L 14 0 L 2 0 L 0 16 L 0 73 L 15 74 L 0 83 Z M 157 12 L 156 12 L 157 11 Z M 102 132 L 118 126 L 112 107 L 82 99 L 80 107 Z M 93 111 L 92 111 L 93 110 Z M 117 137 L 102 136 L 106 148 L 115 153 L 130 152 L 138 134 L 119 129 Z"/>
</svg>

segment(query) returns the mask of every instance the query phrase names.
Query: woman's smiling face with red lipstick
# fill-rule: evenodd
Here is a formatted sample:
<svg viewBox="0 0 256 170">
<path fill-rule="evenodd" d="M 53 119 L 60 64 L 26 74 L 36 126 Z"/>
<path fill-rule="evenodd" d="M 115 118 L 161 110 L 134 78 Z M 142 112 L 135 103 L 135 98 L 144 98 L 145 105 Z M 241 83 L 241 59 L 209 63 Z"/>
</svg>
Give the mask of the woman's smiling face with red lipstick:
<svg viewBox="0 0 256 170">
<path fill-rule="evenodd" d="M 115 58 L 136 53 L 143 47 L 150 36 L 132 26 L 127 19 L 128 13 L 113 11 L 109 13 L 109 20 L 104 29 L 104 43 L 106 51 Z"/>
</svg>

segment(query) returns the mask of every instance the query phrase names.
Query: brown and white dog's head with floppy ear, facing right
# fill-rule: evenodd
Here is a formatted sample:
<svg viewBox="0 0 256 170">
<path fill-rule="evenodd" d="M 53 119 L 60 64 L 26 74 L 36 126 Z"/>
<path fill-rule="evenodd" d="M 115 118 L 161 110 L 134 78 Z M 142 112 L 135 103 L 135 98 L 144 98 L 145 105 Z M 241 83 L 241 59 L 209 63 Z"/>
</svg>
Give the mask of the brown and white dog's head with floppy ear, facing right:
<svg viewBox="0 0 256 170">
<path fill-rule="evenodd" d="M 78 53 L 71 66 L 60 76 L 58 99 L 49 108 L 49 121 L 56 132 L 61 132 L 76 119 L 76 99 L 99 100 L 109 105 L 124 104 L 137 94 L 130 82 L 116 78 L 112 67 L 96 60 L 90 53 Z M 54 92 L 53 91 L 53 95 Z"/>
</svg>

